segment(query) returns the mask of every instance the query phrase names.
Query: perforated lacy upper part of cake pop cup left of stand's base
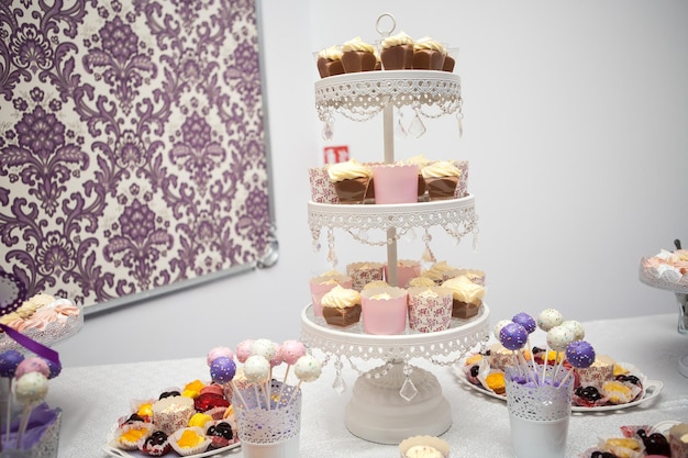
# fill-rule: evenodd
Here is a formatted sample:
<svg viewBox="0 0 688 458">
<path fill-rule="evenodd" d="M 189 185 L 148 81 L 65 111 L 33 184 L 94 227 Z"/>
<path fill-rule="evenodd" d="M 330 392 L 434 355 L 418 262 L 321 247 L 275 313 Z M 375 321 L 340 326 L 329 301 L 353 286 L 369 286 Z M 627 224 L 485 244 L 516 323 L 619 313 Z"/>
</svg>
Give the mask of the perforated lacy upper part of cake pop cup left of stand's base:
<svg viewBox="0 0 688 458">
<path fill-rule="evenodd" d="M 263 395 L 263 388 L 257 390 L 258 398 Z M 240 440 L 248 444 L 276 444 L 299 435 L 301 390 L 295 392 L 295 387 L 285 384 L 281 396 L 271 402 L 270 410 L 266 410 L 264 403 L 256 407 L 256 389 L 253 386 L 238 391 L 248 404 L 246 407 L 240 403 L 235 411 Z M 275 401 L 276 396 L 270 398 Z"/>
</svg>

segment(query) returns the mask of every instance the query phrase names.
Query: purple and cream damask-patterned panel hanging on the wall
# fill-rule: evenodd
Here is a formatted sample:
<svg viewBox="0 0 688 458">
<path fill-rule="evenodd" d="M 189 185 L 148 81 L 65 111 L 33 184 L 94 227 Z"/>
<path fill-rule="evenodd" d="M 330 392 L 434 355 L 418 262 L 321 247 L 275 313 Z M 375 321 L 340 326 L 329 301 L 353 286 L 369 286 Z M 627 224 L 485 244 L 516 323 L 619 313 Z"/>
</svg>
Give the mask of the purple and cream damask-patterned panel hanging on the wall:
<svg viewBox="0 0 688 458">
<path fill-rule="evenodd" d="M 266 254 L 253 0 L 0 0 L 0 271 L 29 295 L 89 306 Z"/>
</svg>

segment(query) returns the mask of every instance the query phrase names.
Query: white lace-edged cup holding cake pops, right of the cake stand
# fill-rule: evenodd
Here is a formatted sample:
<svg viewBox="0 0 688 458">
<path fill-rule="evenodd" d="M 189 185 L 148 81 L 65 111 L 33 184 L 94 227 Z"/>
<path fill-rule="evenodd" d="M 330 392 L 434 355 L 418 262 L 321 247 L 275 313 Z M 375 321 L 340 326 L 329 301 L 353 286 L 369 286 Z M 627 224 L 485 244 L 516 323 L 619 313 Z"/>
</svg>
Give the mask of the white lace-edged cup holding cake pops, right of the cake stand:
<svg viewBox="0 0 688 458">
<path fill-rule="evenodd" d="M 539 366 L 535 366 L 537 368 Z M 552 379 L 554 367 L 546 368 Z M 537 371 L 537 373 L 542 373 Z M 565 458 L 574 379 L 562 387 L 522 384 L 517 368 L 508 367 L 507 409 L 515 458 Z"/>
</svg>

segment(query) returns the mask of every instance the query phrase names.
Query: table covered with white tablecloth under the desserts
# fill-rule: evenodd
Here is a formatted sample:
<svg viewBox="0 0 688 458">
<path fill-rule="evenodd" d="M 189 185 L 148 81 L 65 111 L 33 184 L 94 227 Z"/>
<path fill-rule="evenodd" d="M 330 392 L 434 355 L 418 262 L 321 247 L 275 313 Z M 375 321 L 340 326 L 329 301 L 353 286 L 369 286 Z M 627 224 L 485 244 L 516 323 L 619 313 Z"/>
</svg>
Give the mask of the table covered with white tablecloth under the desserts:
<svg viewBox="0 0 688 458">
<path fill-rule="evenodd" d="M 567 457 L 577 458 L 596 444 L 597 437 L 619 437 L 622 425 L 653 425 L 669 420 L 688 423 L 688 379 L 680 376 L 677 366 L 678 357 L 686 353 L 688 339 L 677 333 L 676 320 L 675 314 L 663 314 L 582 323 L 586 340 L 598 353 L 632 362 L 648 379 L 664 382 L 664 388 L 659 396 L 640 406 L 612 413 L 574 414 Z M 450 401 L 453 425 L 442 437 L 451 444 L 453 457 L 510 456 L 506 402 L 459 383 L 451 368 L 425 361 L 412 364 L 431 369 Z M 360 366 L 365 369 L 365 365 Z M 396 446 L 368 443 L 348 433 L 344 426 L 344 409 L 357 372 L 344 369 L 349 388 L 341 395 L 331 388 L 334 377 L 335 370 L 329 365 L 318 381 L 302 386 L 300 456 L 397 456 Z M 51 406 L 63 409 L 58 456 L 106 456 L 101 446 L 116 418 L 127 413 L 131 400 L 157 395 L 163 389 L 196 379 L 209 379 L 204 355 L 192 359 L 65 368 L 51 381 L 47 398 Z"/>
</svg>

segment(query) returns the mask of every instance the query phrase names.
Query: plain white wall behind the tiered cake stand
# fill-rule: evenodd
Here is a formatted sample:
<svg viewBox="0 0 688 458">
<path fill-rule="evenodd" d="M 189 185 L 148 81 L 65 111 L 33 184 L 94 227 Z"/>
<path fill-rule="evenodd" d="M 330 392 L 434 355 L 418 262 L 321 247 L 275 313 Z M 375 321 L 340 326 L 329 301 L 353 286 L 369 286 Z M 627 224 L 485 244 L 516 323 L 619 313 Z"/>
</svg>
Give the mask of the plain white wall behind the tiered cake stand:
<svg viewBox="0 0 688 458">
<path fill-rule="evenodd" d="M 576 320 L 674 311 L 637 280 L 639 260 L 676 237 L 688 246 L 688 3 L 608 0 L 419 2 L 260 0 L 280 242 L 277 266 L 109 313 L 58 344 L 65 366 L 203 356 L 244 338 L 300 335 L 311 249 L 306 169 L 319 164 L 311 52 L 360 35 L 377 15 L 460 47 L 464 136 L 455 120 L 399 139 L 398 157 L 470 161 L 480 234 L 435 253 L 482 268 L 492 321 L 554 306 Z M 381 157 L 381 121 L 337 119 L 332 143 Z M 419 239 L 400 243 L 419 257 Z M 384 257 L 337 234 L 341 265 Z"/>
</svg>

